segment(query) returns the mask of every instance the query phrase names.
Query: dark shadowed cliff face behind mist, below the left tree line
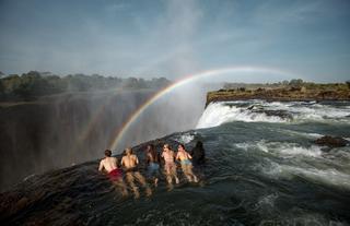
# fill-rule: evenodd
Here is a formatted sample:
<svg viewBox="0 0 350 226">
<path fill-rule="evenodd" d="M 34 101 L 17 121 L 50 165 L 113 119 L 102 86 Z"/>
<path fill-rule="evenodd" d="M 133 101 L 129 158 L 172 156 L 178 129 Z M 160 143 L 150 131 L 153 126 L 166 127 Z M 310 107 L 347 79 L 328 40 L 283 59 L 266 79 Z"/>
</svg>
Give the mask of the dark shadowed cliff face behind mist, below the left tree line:
<svg viewBox="0 0 350 226">
<path fill-rule="evenodd" d="M 100 157 L 110 134 L 155 92 L 86 92 L 0 102 L 0 190 L 32 174 Z"/>
</svg>

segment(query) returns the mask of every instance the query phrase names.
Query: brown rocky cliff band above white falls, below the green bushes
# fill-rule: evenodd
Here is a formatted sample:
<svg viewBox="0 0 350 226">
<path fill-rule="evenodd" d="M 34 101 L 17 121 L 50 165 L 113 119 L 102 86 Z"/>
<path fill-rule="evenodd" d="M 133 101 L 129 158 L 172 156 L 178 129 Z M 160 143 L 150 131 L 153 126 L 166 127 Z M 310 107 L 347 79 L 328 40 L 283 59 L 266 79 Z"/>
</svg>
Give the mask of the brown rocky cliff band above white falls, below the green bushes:
<svg viewBox="0 0 350 226">
<path fill-rule="evenodd" d="M 242 99 L 271 102 L 350 100 L 350 88 L 346 84 L 313 84 L 301 87 L 219 90 L 207 94 L 206 106 L 212 102 Z"/>
</svg>

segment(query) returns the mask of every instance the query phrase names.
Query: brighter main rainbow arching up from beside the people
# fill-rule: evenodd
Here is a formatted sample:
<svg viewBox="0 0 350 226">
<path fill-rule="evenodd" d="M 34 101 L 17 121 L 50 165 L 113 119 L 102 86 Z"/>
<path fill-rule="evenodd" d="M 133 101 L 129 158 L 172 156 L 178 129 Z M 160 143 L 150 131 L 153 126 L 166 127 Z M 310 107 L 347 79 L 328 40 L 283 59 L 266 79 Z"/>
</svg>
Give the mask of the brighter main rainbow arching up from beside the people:
<svg viewBox="0 0 350 226">
<path fill-rule="evenodd" d="M 226 74 L 226 73 L 236 73 L 236 72 L 255 72 L 255 73 L 270 73 L 270 74 L 278 74 L 278 75 L 284 75 L 284 76 L 293 76 L 294 73 L 290 73 L 287 71 L 282 71 L 279 69 L 269 69 L 269 68 L 261 68 L 261 67 L 231 67 L 231 68 L 223 68 L 223 69 L 215 69 L 215 70 L 207 70 L 195 74 L 188 74 L 176 82 L 172 83 L 171 85 L 166 86 L 165 88 L 161 90 L 156 94 L 154 94 L 151 98 L 149 98 L 143 105 L 141 105 L 133 114 L 130 115 L 128 120 L 122 124 L 122 127 L 118 130 L 116 130 L 113 133 L 113 140 L 109 143 L 109 148 L 115 150 L 122 139 L 122 136 L 126 134 L 128 129 L 131 127 L 131 124 L 139 118 L 139 116 L 148 108 L 150 107 L 154 102 L 156 102 L 159 98 L 161 98 L 163 95 L 172 92 L 173 90 L 194 82 L 198 79 L 203 79 L 207 76 L 218 75 L 218 74 Z M 300 76 L 299 76 L 300 78 Z"/>
</svg>

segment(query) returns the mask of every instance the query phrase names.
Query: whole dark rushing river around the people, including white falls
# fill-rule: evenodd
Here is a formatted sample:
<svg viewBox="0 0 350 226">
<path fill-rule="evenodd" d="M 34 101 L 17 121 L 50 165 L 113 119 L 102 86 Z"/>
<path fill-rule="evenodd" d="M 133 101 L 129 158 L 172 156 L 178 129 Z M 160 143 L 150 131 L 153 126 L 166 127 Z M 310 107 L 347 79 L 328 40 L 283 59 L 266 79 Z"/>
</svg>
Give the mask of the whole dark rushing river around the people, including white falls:
<svg viewBox="0 0 350 226">
<path fill-rule="evenodd" d="M 198 129 L 153 141 L 187 148 L 201 140 L 201 181 L 153 195 L 122 198 L 98 162 L 27 178 L 1 194 L 2 225 L 349 225 L 350 146 L 313 143 L 350 138 L 350 103 L 211 104 Z M 144 144 L 136 153 L 143 158 Z M 141 173 L 144 174 L 141 167 Z"/>
</svg>

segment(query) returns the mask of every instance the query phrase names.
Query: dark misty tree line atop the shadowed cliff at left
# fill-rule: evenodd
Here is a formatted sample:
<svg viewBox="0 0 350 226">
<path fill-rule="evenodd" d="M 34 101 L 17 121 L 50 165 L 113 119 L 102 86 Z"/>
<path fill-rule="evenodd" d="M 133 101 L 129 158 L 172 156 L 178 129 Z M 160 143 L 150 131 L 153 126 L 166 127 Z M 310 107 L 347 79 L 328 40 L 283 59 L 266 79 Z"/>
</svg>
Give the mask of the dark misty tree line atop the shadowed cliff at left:
<svg viewBox="0 0 350 226">
<path fill-rule="evenodd" d="M 65 92 L 92 92 L 110 88 L 161 88 L 171 81 L 165 78 L 151 80 L 100 74 L 69 74 L 59 76 L 50 72 L 30 71 L 5 75 L 0 72 L 0 100 L 31 100 L 33 98 Z"/>
</svg>

